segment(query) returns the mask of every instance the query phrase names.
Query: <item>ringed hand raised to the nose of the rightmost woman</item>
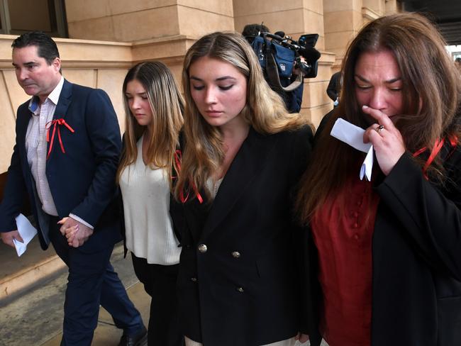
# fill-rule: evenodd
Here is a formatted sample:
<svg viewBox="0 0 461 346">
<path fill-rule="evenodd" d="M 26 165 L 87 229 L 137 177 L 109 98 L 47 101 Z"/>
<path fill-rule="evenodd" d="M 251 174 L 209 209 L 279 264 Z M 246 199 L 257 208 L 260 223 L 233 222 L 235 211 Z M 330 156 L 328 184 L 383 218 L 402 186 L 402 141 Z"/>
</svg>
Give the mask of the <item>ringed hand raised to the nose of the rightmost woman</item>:
<svg viewBox="0 0 461 346">
<path fill-rule="evenodd" d="M 365 130 L 363 142 L 372 143 L 379 167 L 384 174 L 388 175 L 401 155 L 404 155 L 404 138 L 389 116 L 382 111 L 369 106 L 362 106 L 362 111 L 377 120 L 377 123 Z"/>
</svg>

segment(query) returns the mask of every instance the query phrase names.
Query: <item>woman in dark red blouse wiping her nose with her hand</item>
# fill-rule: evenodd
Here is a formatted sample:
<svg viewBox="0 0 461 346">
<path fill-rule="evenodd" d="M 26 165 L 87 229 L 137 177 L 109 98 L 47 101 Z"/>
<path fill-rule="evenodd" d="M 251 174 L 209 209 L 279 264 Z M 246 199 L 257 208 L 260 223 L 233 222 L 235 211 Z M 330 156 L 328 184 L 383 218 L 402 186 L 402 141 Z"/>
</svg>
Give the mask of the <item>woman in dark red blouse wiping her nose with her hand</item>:
<svg viewBox="0 0 461 346">
<path fill-rule="evenodd" d="M 410 13 L 362 28 L 342 71 L 298 200 L 321 333 L 331 346 L 461 345 L 459 74 L 433 24 Z M 365 154 L 330 135 L 338 118 L 365 129 L 371 182 Z"/>
</svg>

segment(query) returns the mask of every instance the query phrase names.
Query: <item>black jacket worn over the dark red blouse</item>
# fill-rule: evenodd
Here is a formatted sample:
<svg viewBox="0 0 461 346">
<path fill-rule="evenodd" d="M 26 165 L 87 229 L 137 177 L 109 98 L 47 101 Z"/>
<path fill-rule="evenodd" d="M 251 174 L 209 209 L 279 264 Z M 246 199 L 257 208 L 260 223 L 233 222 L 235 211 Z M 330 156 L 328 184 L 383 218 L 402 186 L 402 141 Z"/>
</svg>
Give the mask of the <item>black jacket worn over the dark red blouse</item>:
<svg viewBox="0 0 461 346">
<path fill-rule="evenodd" d="M 409 153 L 374 186 L 372 346 L 461 345 L 460 146 L 445 144 L 439 155 L 445 186 L 428 182 Z"/>
</svg>

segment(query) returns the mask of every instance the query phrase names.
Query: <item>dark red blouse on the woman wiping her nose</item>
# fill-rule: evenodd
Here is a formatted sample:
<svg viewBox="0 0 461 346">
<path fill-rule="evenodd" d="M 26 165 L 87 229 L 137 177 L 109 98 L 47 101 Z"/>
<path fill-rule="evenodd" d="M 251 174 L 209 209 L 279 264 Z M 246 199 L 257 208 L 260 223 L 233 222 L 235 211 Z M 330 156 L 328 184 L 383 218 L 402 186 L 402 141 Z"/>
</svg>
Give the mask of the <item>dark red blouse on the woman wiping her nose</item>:
<svg viewBox="0 0 461 346">
<path fill-rule="evenodd" d="M 311 221 L 323 289 L 321 331 L 330 346 L 370 346 L 378 202 L 372 184 L 357 177 L 340 195 L 327 199 Z"/>
</svg>

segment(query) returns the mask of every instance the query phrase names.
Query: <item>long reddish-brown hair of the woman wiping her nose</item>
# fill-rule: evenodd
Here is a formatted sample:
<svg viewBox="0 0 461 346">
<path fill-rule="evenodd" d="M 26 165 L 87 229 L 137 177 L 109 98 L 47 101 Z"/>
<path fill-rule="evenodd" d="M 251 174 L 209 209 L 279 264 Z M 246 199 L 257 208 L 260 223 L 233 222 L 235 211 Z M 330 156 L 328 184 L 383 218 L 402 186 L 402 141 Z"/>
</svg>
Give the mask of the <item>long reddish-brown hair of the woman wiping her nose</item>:
<svg viewBox="0 0 461 346">
<path fill-rule="evenodd" d="M 416 152 L 427 147 L 431 152 L 435 140 L 446 135 L 459 138 L 460 76 L 445 50 L 445 41 L 431 21 L 416 13 L 399 13 L 368 23 L 345 55 L 340 106 L 319 134 L 311 161 L 315 163 L 303 179 L 297 207 L 305 223 L 328 195 L 344 188 L 351 169 L 360 167 L 355 167 L 355 163 L 363 160 L 362 153 L 331 139 L 330 131 L 338 117 L 368 127 L 355 96 L 355 65 L 362 53 L 382 50 L 393 53 L 401 72 L 404 115 L 399 116 L 396 127 L 406 149 Z M 421 168 L 425 164 L 421 159 L 415 160 Z M 443 183 L 443 167 L 438 157 L 428 172 Z"/>
</svg>

